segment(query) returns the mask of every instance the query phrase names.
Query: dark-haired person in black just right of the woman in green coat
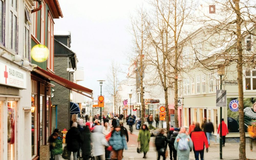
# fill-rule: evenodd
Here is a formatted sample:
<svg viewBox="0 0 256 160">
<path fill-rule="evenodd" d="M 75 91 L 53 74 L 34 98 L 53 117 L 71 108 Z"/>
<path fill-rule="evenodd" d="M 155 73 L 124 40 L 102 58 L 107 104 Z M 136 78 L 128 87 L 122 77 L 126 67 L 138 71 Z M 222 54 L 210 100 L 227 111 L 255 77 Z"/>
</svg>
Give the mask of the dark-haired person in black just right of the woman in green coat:
<svg viewBox="0 0 256 160">
<path fill-rule="evenodd" d="M 160 160 L 160 157 L 163 156 L 163 160 L 165 160 L 165 152 L 167 147 L 167 137 L 164 136 L 164 129 L 160 130 L 160 133 L 156 136 L 155 145 L 156 151 L 158 153 L 157 160 Z"/>
</svg>

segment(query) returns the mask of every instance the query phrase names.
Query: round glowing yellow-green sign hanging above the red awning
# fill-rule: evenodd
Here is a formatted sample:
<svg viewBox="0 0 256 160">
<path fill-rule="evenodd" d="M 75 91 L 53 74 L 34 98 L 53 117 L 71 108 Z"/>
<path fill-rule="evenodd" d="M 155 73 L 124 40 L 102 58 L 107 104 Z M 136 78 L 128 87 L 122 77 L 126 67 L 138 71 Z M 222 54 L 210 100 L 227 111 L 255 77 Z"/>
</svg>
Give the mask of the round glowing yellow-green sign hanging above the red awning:
<svg viewBox="0 0 256 160">
<path fill-rule="evenodd" d="M 31 49 L 31 57 L 36 62 L 44 62 L 49 57 L 49 50 L 45 45 L 35 45 Z"/>
</svg>

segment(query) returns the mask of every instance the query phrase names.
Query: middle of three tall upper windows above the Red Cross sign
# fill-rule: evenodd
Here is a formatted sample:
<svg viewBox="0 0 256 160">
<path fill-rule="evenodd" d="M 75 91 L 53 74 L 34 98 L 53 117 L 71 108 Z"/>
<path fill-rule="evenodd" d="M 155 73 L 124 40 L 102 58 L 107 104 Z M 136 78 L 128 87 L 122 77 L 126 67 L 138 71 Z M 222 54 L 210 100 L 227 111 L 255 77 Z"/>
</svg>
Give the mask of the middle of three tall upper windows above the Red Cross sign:
<svg viewBox="0 0 256 160">
<path fill-rule="evenodd" d="M 9 12 L 9 32 L 8 32 L 8 48 L 17 52 L 17 37 L 18 37 L 18 27 L 17 27 L 17 0 L 11 0 L 10 2 L 10 12 Z"/>
</svg>

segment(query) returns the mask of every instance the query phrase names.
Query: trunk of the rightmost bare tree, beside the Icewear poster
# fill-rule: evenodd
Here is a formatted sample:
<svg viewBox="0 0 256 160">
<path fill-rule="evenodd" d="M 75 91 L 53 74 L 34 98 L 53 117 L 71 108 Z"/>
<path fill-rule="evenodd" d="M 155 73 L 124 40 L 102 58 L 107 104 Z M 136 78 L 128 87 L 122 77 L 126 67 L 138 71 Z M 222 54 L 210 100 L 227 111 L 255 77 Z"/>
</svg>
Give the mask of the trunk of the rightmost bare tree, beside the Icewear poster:
<svg viewBox="0 0 256 160">
<path fill-rule="evenodd" d="M 243 112 L 243 50 L 242 50 L 242 37 L 241 37 L 241 13 L 239 7 L 239 0 L 233 0 L 235 3 L 236 14 L 237 14 L 237 81 L 238 81 L 238 113 L 239 113 L 239 133 L 240 133 L 240 144 L 239 144 L 239 159 L 246 160 L 245 152 L 245 131 L 244 131 L 244 112 Z"/>
</svg>

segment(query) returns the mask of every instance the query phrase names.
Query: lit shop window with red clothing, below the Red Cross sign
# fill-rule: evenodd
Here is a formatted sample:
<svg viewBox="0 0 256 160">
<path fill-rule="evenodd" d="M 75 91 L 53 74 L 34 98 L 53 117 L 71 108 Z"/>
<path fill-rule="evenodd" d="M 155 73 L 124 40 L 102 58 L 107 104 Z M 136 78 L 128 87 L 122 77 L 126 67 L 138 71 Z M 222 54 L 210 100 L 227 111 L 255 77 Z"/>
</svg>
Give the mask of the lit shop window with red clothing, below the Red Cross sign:
<svg viewBox="0 0 256 160">
<path fill-rule="evenodd" d="M 17 159 L 17 102 L 7 102 L 7 160 Z"/>
</svg>

